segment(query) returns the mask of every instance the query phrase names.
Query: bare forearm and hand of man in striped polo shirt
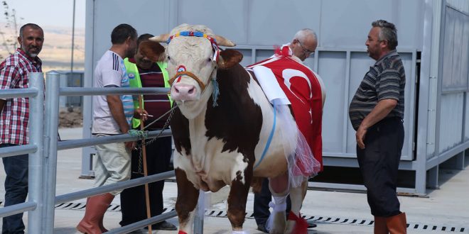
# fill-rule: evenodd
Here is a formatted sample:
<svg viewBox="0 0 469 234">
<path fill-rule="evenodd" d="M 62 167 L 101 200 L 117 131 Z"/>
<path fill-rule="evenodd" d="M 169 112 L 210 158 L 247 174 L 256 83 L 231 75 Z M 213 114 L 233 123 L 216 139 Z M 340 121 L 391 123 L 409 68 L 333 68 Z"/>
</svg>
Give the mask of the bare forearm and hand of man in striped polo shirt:
<svg viewBox="0 0 469 234">
<path fill-rule="evenodd" d="M 357 133 L 355 133 L 357 145 L 360 147 L 360 149 L 365 149 L 365 143 L 363 143 L 363 140 L 365 140 L 365 135 L 367 134 L 368 128 L 381 121 L 396 106 L 396 99 L 382 99 L 381 101 L 378 101 L 378 104 L 374 106 L 372 111 L 363 119 L 362 123 L 360 123 L 360 126 L 357 129 Z"/>
</svg>

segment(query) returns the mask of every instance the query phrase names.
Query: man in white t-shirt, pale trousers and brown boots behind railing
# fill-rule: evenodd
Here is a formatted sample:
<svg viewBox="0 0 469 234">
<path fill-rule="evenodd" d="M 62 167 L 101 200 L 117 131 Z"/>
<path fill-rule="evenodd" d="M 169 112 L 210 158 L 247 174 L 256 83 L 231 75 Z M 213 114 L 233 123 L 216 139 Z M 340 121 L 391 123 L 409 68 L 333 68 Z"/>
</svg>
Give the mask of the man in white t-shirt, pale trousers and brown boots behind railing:
<svg viewBox="0 0 469 234">
<path fill-rule="evenodd" d="M 133 57 L 137 33 L 128 24 L 120 24 L 111 33 L 112 46 L 102 55 L 95 69 L 94 87 L 129 87 L 124 58 Z M 125 134 L 134 115 L 131 95 L 93 96 L 93 126 L 95 137 Z M 96 145 L 94 158 L 95 186 L 115 184 L 130 178 L 131 149 L 134 142 Z M 122 190 L 121 190 L 122 191 Z M 102 220 L 114 196 L 121 191 L 88 198 L 85 217 L 77 225 L 81 233 L 104 233 Z"/>
</svg>

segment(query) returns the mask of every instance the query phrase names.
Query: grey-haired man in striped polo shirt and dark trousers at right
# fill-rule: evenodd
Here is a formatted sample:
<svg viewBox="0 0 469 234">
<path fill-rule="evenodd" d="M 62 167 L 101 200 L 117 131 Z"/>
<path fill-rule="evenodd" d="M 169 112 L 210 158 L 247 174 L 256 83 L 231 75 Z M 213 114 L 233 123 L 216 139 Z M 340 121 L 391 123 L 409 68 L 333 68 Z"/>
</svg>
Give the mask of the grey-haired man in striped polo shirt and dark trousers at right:
<svg viewBox="0 0 469 234">
<path fill-rule="evenodd" d="M 366 42 L 377 60 L 350 103 L 349 116 L 357 131 L 357 160 L 374 216 L 374 233 L 406 233 L 406 215 L 396 194 L 397 172 L 404 143 L 406 76 L 396 52 L 397 29 L 374 21 Z"/>
</svg>

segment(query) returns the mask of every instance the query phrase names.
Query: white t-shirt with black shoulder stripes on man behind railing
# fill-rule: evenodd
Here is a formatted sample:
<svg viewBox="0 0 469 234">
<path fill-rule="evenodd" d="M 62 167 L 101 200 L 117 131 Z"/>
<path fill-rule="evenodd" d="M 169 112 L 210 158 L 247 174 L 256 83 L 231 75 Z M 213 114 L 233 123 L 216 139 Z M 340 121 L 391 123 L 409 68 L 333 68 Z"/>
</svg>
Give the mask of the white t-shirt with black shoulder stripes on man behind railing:
<svg viewBox="0 0 469 234">
<path fill-rule="evenodd" d="M 102 88 L 107 86 L 129 87 L 129 77 L 124 66 L 122 57 L 107 50 L 97 62 L 95 68 L 95 81 L 93 87 Z M 131 95 L 121 95 L 122 106 L 127 123 L 130 124 L 134 115 L 134 101 Z M 105 95 L 93 96 L 93 127 L 92 133 L 120 134 L 119 125 L 107 105 Z"/>
</svg>

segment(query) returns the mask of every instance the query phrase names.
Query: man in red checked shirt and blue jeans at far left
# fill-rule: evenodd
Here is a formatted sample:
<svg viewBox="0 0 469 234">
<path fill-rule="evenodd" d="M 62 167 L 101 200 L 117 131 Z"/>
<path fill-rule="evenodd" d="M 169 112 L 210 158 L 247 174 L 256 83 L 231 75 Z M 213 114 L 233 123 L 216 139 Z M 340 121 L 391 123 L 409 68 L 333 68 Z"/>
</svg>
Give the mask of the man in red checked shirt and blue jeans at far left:
<svg viewBox="0 0 469 234">
<path fill-rule="evenodd" d="M 0 89 L 28 88 L 28 74 L 42 72 L 38 57 L 44 32 L 34 23 L 20 28 L 20 48 L 0 64 Z M 0 147 L 27 145 L 29 99 L 0 99 Z M 2 157 L 5 179 L 5 206 L 26 201 L 28 196 L 28 155 Z M 23 213 L 3 218 L 2 233 L 24 233 Z"/>
</svg>

